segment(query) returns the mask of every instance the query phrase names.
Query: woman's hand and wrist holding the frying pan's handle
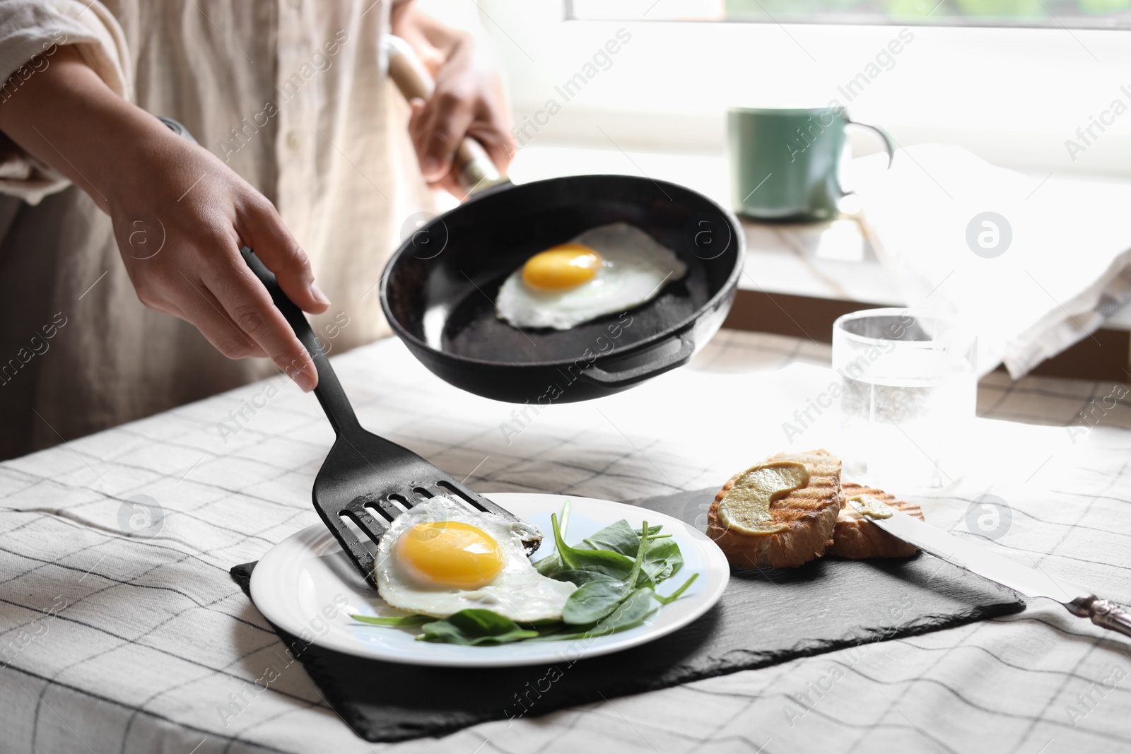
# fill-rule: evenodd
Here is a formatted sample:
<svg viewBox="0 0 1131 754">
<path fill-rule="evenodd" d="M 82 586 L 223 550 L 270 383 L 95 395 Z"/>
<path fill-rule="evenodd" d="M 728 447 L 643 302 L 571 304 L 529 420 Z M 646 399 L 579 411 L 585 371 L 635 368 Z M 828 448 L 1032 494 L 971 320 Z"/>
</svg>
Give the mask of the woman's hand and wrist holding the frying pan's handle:
<svg viewBox="0 0 1131 754">
<path fill-rule="evenodd" d="M 510 114 L 502 79 L 466 32 L 457 32 L 404 3 L 394 17 L 394 33 L 404 37 L 435 78 L 428 102 L 414 99 L 408 132 L 421 173 L 429 185 L 464 198 L 452 158 L 465 136 L 476 139 L 506 172 L 513 156 Z"/>
</svg>

